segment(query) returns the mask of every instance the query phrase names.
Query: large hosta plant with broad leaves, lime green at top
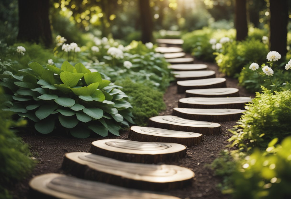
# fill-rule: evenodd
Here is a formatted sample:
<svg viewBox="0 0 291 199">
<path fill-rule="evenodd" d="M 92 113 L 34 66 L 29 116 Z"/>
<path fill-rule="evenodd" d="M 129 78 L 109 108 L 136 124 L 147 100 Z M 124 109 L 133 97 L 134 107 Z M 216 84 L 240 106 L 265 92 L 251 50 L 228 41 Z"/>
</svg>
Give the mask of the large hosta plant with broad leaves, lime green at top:
<svg viewBox="0 0 291 199">
<path fill-rule="evenodd" d="M 11 90 L 7 109 L 34 122 L 35 129 L 48 134 L 64 127 L 72 136 L 86 138 L 91 132 L 119 135 L 120 126 L 133 123 L 132 107 L 120 86 L 102 79 L 83 64 L 65 61 L 61 69 L 32 62 L 23 76 L 4 72 L 1 85 Z"/>
</svg>

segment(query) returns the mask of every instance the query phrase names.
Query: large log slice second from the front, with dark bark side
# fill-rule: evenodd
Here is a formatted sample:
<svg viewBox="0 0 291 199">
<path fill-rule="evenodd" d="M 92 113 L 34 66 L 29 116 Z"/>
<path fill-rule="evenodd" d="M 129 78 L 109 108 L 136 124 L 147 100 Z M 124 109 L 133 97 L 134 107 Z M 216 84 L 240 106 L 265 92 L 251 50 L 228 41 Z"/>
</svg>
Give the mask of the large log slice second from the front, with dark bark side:
<svg viewBox="0 0 291 199">
<path fill-rule="evenodd" d="M 87 180 L 146 190 L 184 188 L 194 177 L 180 166 L 123 162 L 85 152 L 65 154 L 62 168 Z"/>
</svg>

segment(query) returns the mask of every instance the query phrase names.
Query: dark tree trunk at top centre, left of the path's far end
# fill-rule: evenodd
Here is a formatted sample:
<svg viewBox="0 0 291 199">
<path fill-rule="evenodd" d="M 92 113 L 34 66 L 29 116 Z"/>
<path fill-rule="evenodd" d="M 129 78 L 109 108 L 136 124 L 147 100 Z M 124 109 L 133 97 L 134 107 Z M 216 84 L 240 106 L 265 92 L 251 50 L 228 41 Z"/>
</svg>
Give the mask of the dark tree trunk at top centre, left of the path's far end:
<svg viewBox="0 0 291 199">
<path fill-rule="evenodd" d="M 141 41 L 143 43 L 152 42 L 152 13 L 149 0 L 139 0 L 139 11 L 141 13 Z"/>
</svg>

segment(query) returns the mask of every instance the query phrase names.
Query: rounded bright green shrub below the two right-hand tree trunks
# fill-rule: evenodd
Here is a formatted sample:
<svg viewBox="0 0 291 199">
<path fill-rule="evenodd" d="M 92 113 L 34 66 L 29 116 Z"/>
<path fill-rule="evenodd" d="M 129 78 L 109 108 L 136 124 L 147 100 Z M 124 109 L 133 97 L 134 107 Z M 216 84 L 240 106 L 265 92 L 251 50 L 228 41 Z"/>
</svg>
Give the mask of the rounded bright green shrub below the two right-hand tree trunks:
<svg viewBox="0 0 291 199">
<path fill-rule="evenodd" d="M 260 40 L 232 42 L 223 46 L 223 51 L 215 58 L 220 71 L 227 76 L 234 76 L 250 62 L 262 63 L 268 53 L 267 45 Z"/>
</svg>

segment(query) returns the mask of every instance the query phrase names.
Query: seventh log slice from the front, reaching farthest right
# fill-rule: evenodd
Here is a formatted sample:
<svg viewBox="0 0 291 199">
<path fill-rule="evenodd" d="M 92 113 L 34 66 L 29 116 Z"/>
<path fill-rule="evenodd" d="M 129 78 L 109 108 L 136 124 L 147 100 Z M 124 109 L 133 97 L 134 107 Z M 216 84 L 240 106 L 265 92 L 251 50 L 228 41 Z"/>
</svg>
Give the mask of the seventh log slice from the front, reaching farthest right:
<svg viewBox="0 0 291 199">
<path fill-rule="evenodd" d="M 190 109 L 244 109 L 250 97 L 186 97 L 179 99 L 178 107 Z"/>
</svg>

